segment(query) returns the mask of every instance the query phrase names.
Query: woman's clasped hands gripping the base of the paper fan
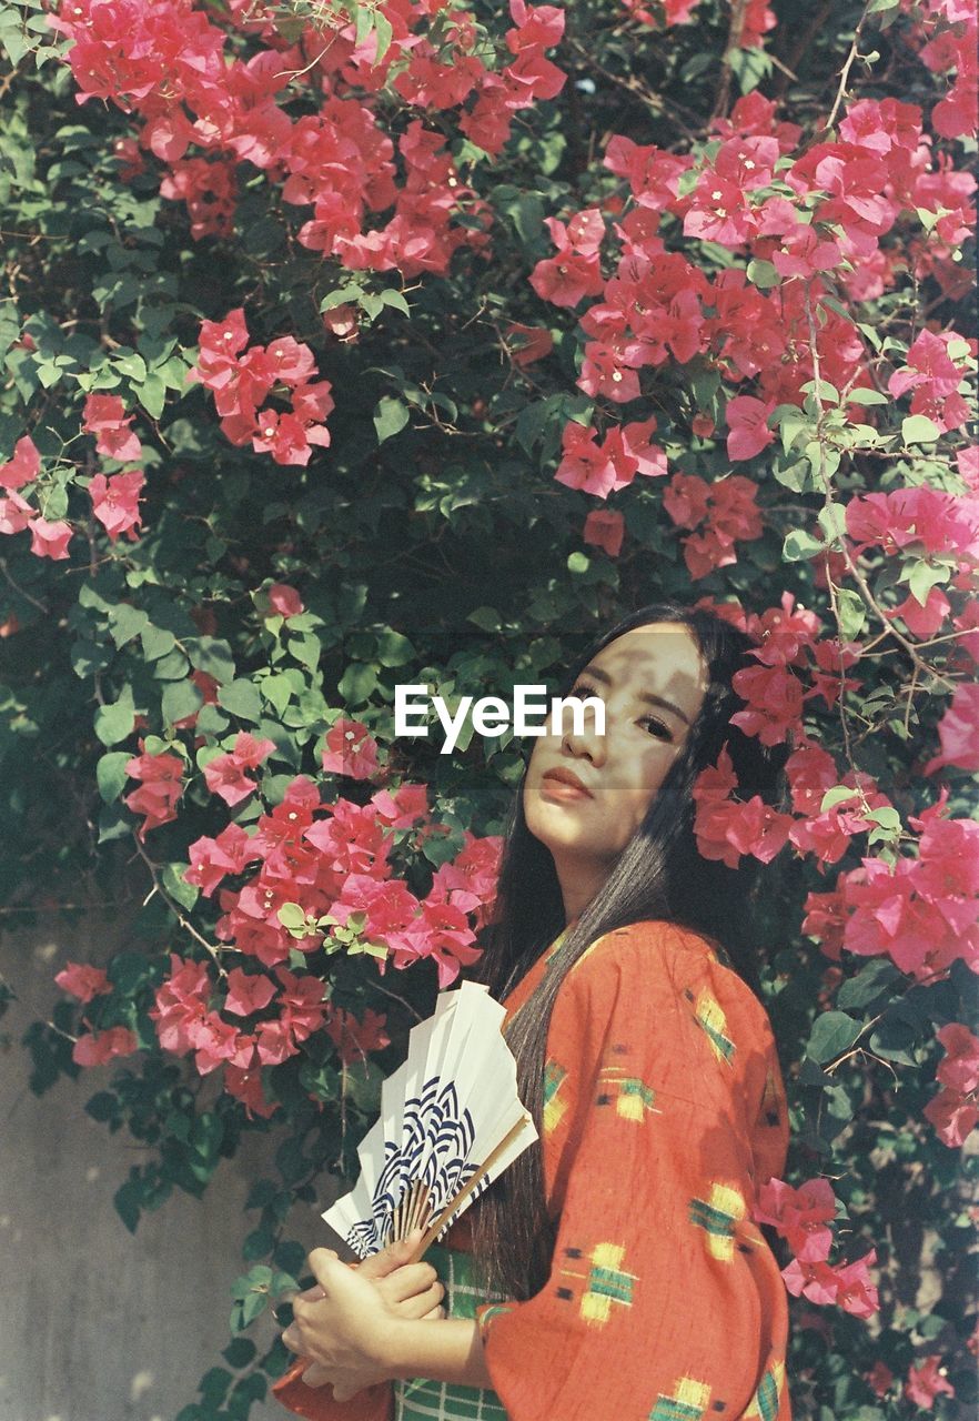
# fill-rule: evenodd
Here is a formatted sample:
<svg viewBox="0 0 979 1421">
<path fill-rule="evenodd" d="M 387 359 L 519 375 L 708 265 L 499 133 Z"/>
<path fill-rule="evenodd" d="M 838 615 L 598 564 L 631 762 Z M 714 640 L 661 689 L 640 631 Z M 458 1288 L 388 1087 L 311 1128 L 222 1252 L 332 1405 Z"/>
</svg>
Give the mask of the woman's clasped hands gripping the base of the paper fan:
<svg viewBox="0 0 979 1421">
<path fill-rule="evenodd" d="M 332 1249 L 314 1249 L 308 1266 L 317 1286 L 293 1300 L 294 1320 L 283 1333 L 291 1350 L 310 1358 L 307 1385 L 332 1384 L 337 1401 L 384 1381 L 385 1341 L 404 1320 L 445 1316 L 442 1285 L 429 1263 L 405 1263 L 418 1236 L 391 1245 L 350 1269 Z"/>
</svg>

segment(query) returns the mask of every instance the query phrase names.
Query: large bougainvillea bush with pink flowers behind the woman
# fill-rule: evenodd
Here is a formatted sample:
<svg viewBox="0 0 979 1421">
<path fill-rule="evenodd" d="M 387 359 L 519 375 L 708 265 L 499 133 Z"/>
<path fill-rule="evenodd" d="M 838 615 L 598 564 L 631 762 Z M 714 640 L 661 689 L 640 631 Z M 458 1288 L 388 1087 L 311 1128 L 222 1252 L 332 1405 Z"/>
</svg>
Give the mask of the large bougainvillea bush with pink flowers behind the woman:
<svg viewBox="0 0 979 1421">
<path fill-rule="evenodd" d="M 180 1421 L 283 1370 L 296 1209 L 479 955 L 527 746 L 396 737 L 395 685 L 553 686 L 664 595 L 754 634 L 737 723 L 790 752 L 784 803 L 723 755 L 696 800 L 769 864 L 796 1410 L 970 1414 L 970 0 L 21 0 L 0 37 L 3 887 L 132 914 L 33 1083 L 146 1147 L 132 1229 L 270 1137 Z"/>
</svg>

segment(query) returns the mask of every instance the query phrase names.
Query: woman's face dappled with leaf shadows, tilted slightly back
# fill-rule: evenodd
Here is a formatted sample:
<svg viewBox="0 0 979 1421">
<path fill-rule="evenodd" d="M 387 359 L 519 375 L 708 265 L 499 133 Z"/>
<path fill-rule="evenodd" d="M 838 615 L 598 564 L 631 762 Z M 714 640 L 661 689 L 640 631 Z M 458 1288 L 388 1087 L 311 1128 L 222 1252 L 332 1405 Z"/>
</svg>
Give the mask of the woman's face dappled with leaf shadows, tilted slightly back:
<svg viewBox="0 0 979 1421">
<path fill-rule="evenodd" d="M 703 659 L 689 630 L 649 622 L 604 647 L 571 691 L 605 702 L 604 736 L 591 712 L 581 733 L 567 712 L 563 736 L 537 739 L 524 817 L 551 851 L 566 905 L 566 880 L 591 897 L 642 823 L 701 713 L 703 691 Z"/>
</svg>

